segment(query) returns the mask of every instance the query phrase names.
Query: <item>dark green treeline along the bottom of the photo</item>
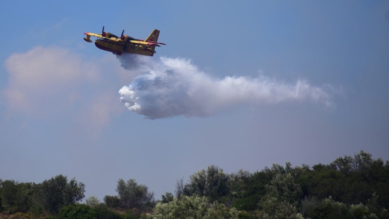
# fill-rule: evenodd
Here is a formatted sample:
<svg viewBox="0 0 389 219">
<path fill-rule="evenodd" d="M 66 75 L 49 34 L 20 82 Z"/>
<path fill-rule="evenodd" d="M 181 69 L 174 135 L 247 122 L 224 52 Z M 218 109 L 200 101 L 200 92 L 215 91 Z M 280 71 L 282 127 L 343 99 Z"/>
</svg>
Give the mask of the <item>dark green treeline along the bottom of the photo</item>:
<svg viewBox="0 0 389 219">
<path fill-rule="evenodd" d="M 120 179 L 116 192 L 80 204 L 85 185 L 62 175 L 38 184 L 0 180 L 0 218 L 389 219 L 389 163 L 360 151 L 331 164 L 273 164 L 254 173 L 211 165 L 157 201 L 133 179 Z"/>
</svg>

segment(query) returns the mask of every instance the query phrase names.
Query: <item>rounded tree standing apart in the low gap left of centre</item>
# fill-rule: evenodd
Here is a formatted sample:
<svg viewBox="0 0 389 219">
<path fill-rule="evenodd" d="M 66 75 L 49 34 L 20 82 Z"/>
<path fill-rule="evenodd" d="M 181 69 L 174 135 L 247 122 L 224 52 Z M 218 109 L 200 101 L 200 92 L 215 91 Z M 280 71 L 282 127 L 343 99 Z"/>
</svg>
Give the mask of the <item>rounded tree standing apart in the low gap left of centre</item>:
<svg viewBox="0 0 389 219">
<path fill-rule="evenodd" d="M 138 184 L 133 179 L 127 182 L 120 179 L 116 192 L 119 195 L 121 205 L 126 209 L 144 210 L 154 203 L 154 193 L 148 192 L 147 186 Z"/>
</svg>

